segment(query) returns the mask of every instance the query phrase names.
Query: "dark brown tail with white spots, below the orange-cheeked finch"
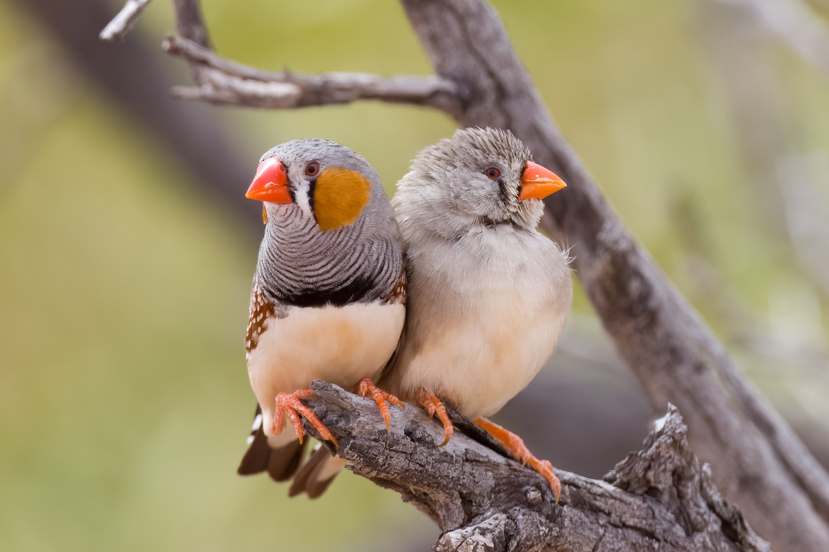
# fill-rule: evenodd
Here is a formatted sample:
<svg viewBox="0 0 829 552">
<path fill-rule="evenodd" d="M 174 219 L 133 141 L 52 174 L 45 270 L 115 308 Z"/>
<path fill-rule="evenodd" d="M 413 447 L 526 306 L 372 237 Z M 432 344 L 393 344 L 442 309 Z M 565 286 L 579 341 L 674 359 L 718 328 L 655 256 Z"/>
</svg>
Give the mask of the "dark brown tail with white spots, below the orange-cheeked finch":
<svg viewBox="0 0 829 552">
<path fill-rule="evenodd" d="M 248 449 L 236 473 L 254 475 L 267 472 L 274 481 L 286 481 L 297 471 L 304 451 L 305 445 L 298 440 L 272 449 L 262 430 L 262 409 L 257 405 L 254 424 L 248 437 Z"/>
</svg>

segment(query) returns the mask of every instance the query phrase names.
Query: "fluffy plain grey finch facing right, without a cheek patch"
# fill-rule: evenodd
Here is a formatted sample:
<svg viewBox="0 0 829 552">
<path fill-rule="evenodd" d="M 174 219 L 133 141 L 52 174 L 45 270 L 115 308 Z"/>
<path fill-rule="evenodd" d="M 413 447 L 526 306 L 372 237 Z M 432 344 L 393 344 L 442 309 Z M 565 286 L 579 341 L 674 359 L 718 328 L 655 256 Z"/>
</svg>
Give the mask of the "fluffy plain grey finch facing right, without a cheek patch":
<svg viewBox="0 0 829 552">
<path fill-rule="evenodd" d="M 397 185 L 405 245 L 406 321 L 379 385 L 438 415 L 445 405 L 504 444 L 549 482 L 552 464 L 485 416 L 524 389 L 554 353 L 573 300 L 568 249 L 536 229 L 541 199 L 565 182 L 507 130 L 466 128 L 415 156 Z M 294 485 L 332 478 L 314 451 Z M 336 473 L 335 473 L 336 474 Z"/>
</svg>

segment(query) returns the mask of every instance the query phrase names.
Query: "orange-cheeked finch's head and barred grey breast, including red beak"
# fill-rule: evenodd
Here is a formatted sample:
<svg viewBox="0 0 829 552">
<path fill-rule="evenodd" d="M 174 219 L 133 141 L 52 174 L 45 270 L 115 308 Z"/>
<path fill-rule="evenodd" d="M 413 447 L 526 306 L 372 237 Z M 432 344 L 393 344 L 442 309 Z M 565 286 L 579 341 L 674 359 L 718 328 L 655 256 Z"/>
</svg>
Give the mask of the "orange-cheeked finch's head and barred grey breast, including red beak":
<svg viewBox="0 0 829 552">
<path fill-rule="evenodd" d="M 319 138 L 267 151 L 246 194 L 264 202 L 256 281 L 270 305 L 392 300 L 403 271 L 395 212 L 376 170 Z"/>
</svg>

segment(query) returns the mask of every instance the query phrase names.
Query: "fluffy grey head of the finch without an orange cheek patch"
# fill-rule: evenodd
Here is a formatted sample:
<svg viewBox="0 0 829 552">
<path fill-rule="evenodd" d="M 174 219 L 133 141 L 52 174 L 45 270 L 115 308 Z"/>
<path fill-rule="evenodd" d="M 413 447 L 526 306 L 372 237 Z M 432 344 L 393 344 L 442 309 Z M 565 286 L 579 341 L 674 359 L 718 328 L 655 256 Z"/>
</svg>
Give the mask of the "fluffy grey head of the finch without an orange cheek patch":
<svg viewBox="0 0 829 552">
<path fill-rule="evenodd" d="M 447 238 L 500 224 L 534 231 L 544 204 L 537 194 L 522 196 L 529 166 L 536 166 L 530 150 L 511 132 L 465 128 L 419 152 L 392 205 L 401 227 L 413 224 Z"/>
</svg>

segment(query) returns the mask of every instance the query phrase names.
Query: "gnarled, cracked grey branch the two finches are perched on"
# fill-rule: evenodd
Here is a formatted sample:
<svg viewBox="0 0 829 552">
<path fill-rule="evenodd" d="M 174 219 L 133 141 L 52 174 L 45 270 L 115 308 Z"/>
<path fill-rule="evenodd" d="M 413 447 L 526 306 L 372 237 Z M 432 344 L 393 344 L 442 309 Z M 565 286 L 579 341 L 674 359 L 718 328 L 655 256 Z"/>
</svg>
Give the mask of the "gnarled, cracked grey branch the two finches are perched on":
<svg viewBox="0 0 829 552">
<path fill-rule="evenodd" d="M 645 448 L 618 463 L 607 482 L 560 471 L 556 505 L 538 473 L 505 458 L 454 413 L 462 431 L 439 447 L 443 427 L 424 410 L 393 407 L 387 434 L 374 401 L 328 383 L 312 388 L 318 398 L 308 404 L 339 440 L 337 454 L 431 517 L 442 531 L 438 552 L 769 550 L 717 492 L 673 406 Z"/>
</svg>

